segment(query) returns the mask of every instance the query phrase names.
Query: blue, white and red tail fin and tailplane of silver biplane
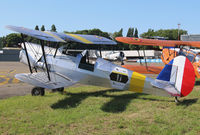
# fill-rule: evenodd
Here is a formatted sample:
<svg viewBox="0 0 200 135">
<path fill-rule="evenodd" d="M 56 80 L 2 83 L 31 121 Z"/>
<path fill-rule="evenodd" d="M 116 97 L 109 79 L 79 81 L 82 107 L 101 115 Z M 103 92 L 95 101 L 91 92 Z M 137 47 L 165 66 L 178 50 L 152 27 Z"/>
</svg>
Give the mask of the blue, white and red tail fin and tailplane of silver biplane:
<svg viewBox="0 0 200 135">
<path fill-rule="evenodd" d="M 192 91 L 194 84 L 192 63 L 186 57 L 178 56 L 164 67 L 152 85 L 165 89 L 172 96 L 184 97 Z"/>
</svg>

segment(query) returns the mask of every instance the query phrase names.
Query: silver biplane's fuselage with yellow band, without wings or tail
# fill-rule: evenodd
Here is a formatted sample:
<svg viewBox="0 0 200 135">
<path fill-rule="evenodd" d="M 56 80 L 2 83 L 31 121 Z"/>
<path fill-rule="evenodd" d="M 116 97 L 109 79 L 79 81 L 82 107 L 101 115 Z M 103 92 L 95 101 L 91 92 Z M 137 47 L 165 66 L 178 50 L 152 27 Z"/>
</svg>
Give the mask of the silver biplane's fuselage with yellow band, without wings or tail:
<svg viewBox="0 0 200 135">
<path fill-rule="evenodd" d="M 30 46 L 33 47 L 34 45 L 31 44 Z M 27 45 L 27 50 L 29 59 L 31 59 L 31 65 L 44 71 L 46 67 L 41 52 L 33 52 L 33 49 L 29 49 L 30 46 Z M 49 49 L 53 48 L 45 47 L 45 50 Z M 35 57 L 36 54 L 40 54 L 39 56 L 41 58 Z M 20 59 L 21 62 L 27 64 L 24 50 L 20 52 Z M 113 64 L 100 57 L 97 58 L 96 61 L 89 62 L 86 56 L 82 54 L 78 54 L 74 57 L 58 52 L 58 55 L 55 57 L 54 53 L 46 53 L 46 60 L 50 72 L 70 78 L 81 84 L 129 90 L 159 96 L 171 96 L 166 90 L 154 87 L 152 85 L 154 79 Z"/>
</svg>

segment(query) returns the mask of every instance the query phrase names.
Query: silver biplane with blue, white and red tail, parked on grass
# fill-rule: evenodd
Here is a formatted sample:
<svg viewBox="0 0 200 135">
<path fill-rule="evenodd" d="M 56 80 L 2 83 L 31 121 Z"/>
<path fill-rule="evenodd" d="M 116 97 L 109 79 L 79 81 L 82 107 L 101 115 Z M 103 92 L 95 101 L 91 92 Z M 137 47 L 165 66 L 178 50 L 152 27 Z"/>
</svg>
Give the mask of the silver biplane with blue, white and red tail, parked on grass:
<svg viewBox="0 0 200 135">
<path fill-rule="evenodd" d="M 30 73 L 16 74 L 22 82 L 36 86 L 32 95 L 44 95 L 44 89 L 63 90 L 76 83 L 130 90 L 158 96 L 187 96 L 195 84 L 194 68 L 184 56 L 178 56 L 167 64 L 156 79 L 130 71 L 98 57 L 90 61 L 87 50 L 76 57 L 63 53 L 63 48 L 53 49 L 44 41 L 79 42 L 82 44 L 116 45 L 116 42 L 95 35 L 65 34 L 37 31 L 23 27 L 7 26 L 21 33 L 23 39 L 20 61 L 29 66 Z M 41 45 L 27 43 L 24 35 L 41 40 Z M 34 72 L 33 72 L 34 71 Z"/>
</svg>

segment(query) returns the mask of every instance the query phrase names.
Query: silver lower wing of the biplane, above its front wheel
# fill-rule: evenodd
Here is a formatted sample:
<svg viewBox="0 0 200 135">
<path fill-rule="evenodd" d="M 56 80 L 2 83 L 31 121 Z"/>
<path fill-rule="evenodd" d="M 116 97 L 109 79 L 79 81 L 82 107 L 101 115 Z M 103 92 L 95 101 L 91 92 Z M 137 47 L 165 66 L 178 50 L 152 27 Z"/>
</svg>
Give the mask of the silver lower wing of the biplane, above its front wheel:
<svg viewBox="0 0 200 135">
<path fill-rule="evenodd" d="M 76 84 L 76 81 L 72 81 L 70 78 L 50 72 L 51 80 L 49 81 L 47 74 L 45 72 L 38 73 L 21 73 L 16 74 L 15 77 L 22 82 L 29 83 L 34 86 L 47 88 L 47 89 L 56 89 L 61 87 L 69 87 Z"/>
</svg>

